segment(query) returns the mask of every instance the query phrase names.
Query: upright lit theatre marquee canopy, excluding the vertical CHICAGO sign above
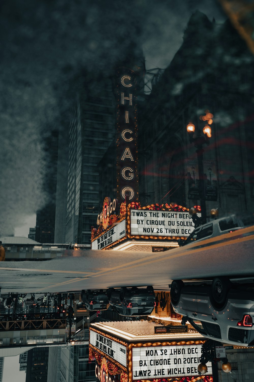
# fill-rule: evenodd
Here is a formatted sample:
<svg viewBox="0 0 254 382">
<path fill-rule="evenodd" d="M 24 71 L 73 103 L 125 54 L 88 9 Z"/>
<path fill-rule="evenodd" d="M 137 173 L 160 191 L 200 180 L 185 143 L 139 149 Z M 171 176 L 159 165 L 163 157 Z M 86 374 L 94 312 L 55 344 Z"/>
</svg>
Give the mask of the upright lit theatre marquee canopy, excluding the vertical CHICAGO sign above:
<svg viewBox="0 0 254 382">
<path fill-rule="evenodd" d="M 200 216 L 200 207 L 195 206 Z M 92 227 L 92 249 L 161 252 L 178 246 L 194 230 L 189 210 L 177 204 L 112 202 L 104 199 L 97 228 Z"/>
</svg>

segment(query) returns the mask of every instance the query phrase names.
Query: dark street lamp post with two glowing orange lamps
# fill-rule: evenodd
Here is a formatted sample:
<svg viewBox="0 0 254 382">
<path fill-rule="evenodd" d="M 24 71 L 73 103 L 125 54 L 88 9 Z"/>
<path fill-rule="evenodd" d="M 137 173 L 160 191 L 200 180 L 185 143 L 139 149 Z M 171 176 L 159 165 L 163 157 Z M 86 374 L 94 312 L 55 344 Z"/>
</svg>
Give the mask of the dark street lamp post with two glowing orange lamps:
<svg viewBox="0 0 254 382">
<path fill-rule="evenodd" d="M 210 121 L 209 121 L 210 122 Z M 202 224 L 206 223 L 206 201 L 205 201 L 205 183 L 204 183 L 204 168 L 203 168 L 203 145 L 209 145 L 209 138 L 211 138 L 211 127 L 206 124 L 203 128 L 204 135 L 201 135 L 199 129 L 196 129 L 193 123 L 188 123 L 186 126 L 189 134 L 190 143 L 194 143 L 198 157 L 198 175 L 199 175 L 199 195 L 201 206 L 201 220 Z"/>
</svg>

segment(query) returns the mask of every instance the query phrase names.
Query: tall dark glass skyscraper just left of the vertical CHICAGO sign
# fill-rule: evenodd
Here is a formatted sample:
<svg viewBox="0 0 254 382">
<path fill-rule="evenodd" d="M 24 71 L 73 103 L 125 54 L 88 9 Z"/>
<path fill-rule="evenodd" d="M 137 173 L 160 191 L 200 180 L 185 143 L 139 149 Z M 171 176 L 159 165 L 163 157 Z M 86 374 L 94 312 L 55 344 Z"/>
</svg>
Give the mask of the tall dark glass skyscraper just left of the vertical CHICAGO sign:
<svg viewBox="0 0 254 382">
<path fill-rule="evenodd" d="M 58 166 L 58 175 L 62 176 L 57 177 L 55 242 L 89 247 L 91 226 L 96 222 L 99 209 L 96 166 L 113 139 L 115 107 L 109 77 L 88 73 L 81 76 L 80 81 L 81 90 L 71 108 L 69 134 L 63 133 L 60 137 L 69 150 L 63 152 L 61 149 L 61 165 Z M 66 166 L 67 179 L 64 178 Z M 62 227 L 65 216 L 66 228 Z"/>
</svg>

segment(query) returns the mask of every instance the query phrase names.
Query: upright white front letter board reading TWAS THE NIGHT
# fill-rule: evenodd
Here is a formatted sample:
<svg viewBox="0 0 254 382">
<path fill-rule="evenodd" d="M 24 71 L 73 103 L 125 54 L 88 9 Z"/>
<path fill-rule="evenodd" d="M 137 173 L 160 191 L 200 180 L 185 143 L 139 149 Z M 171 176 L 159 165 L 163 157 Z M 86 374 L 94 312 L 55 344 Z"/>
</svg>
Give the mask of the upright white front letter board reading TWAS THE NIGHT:
<svg viewBox="0 0 254 382">
<path fill-rule="evenodd" d="M 194 223 L 188 211 L 130 210 L 131 235 L 188 237 L 193 230 Z"/>
</svg>

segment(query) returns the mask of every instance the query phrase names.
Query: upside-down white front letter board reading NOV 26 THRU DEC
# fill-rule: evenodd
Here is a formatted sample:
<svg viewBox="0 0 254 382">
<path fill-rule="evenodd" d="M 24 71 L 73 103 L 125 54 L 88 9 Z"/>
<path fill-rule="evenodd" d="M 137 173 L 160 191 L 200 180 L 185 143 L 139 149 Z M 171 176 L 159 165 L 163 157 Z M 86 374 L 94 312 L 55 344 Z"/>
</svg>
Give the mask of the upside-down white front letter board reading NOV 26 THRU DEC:
<svg viewBox="0 0 254 382">
<path fill-rule="evenodd" d="M 201 345 L 132 348 L 132 380 L 190 377 L 198 374 Z M 212 364 L 207 362 L 207 375 Z"/>
</svg>

